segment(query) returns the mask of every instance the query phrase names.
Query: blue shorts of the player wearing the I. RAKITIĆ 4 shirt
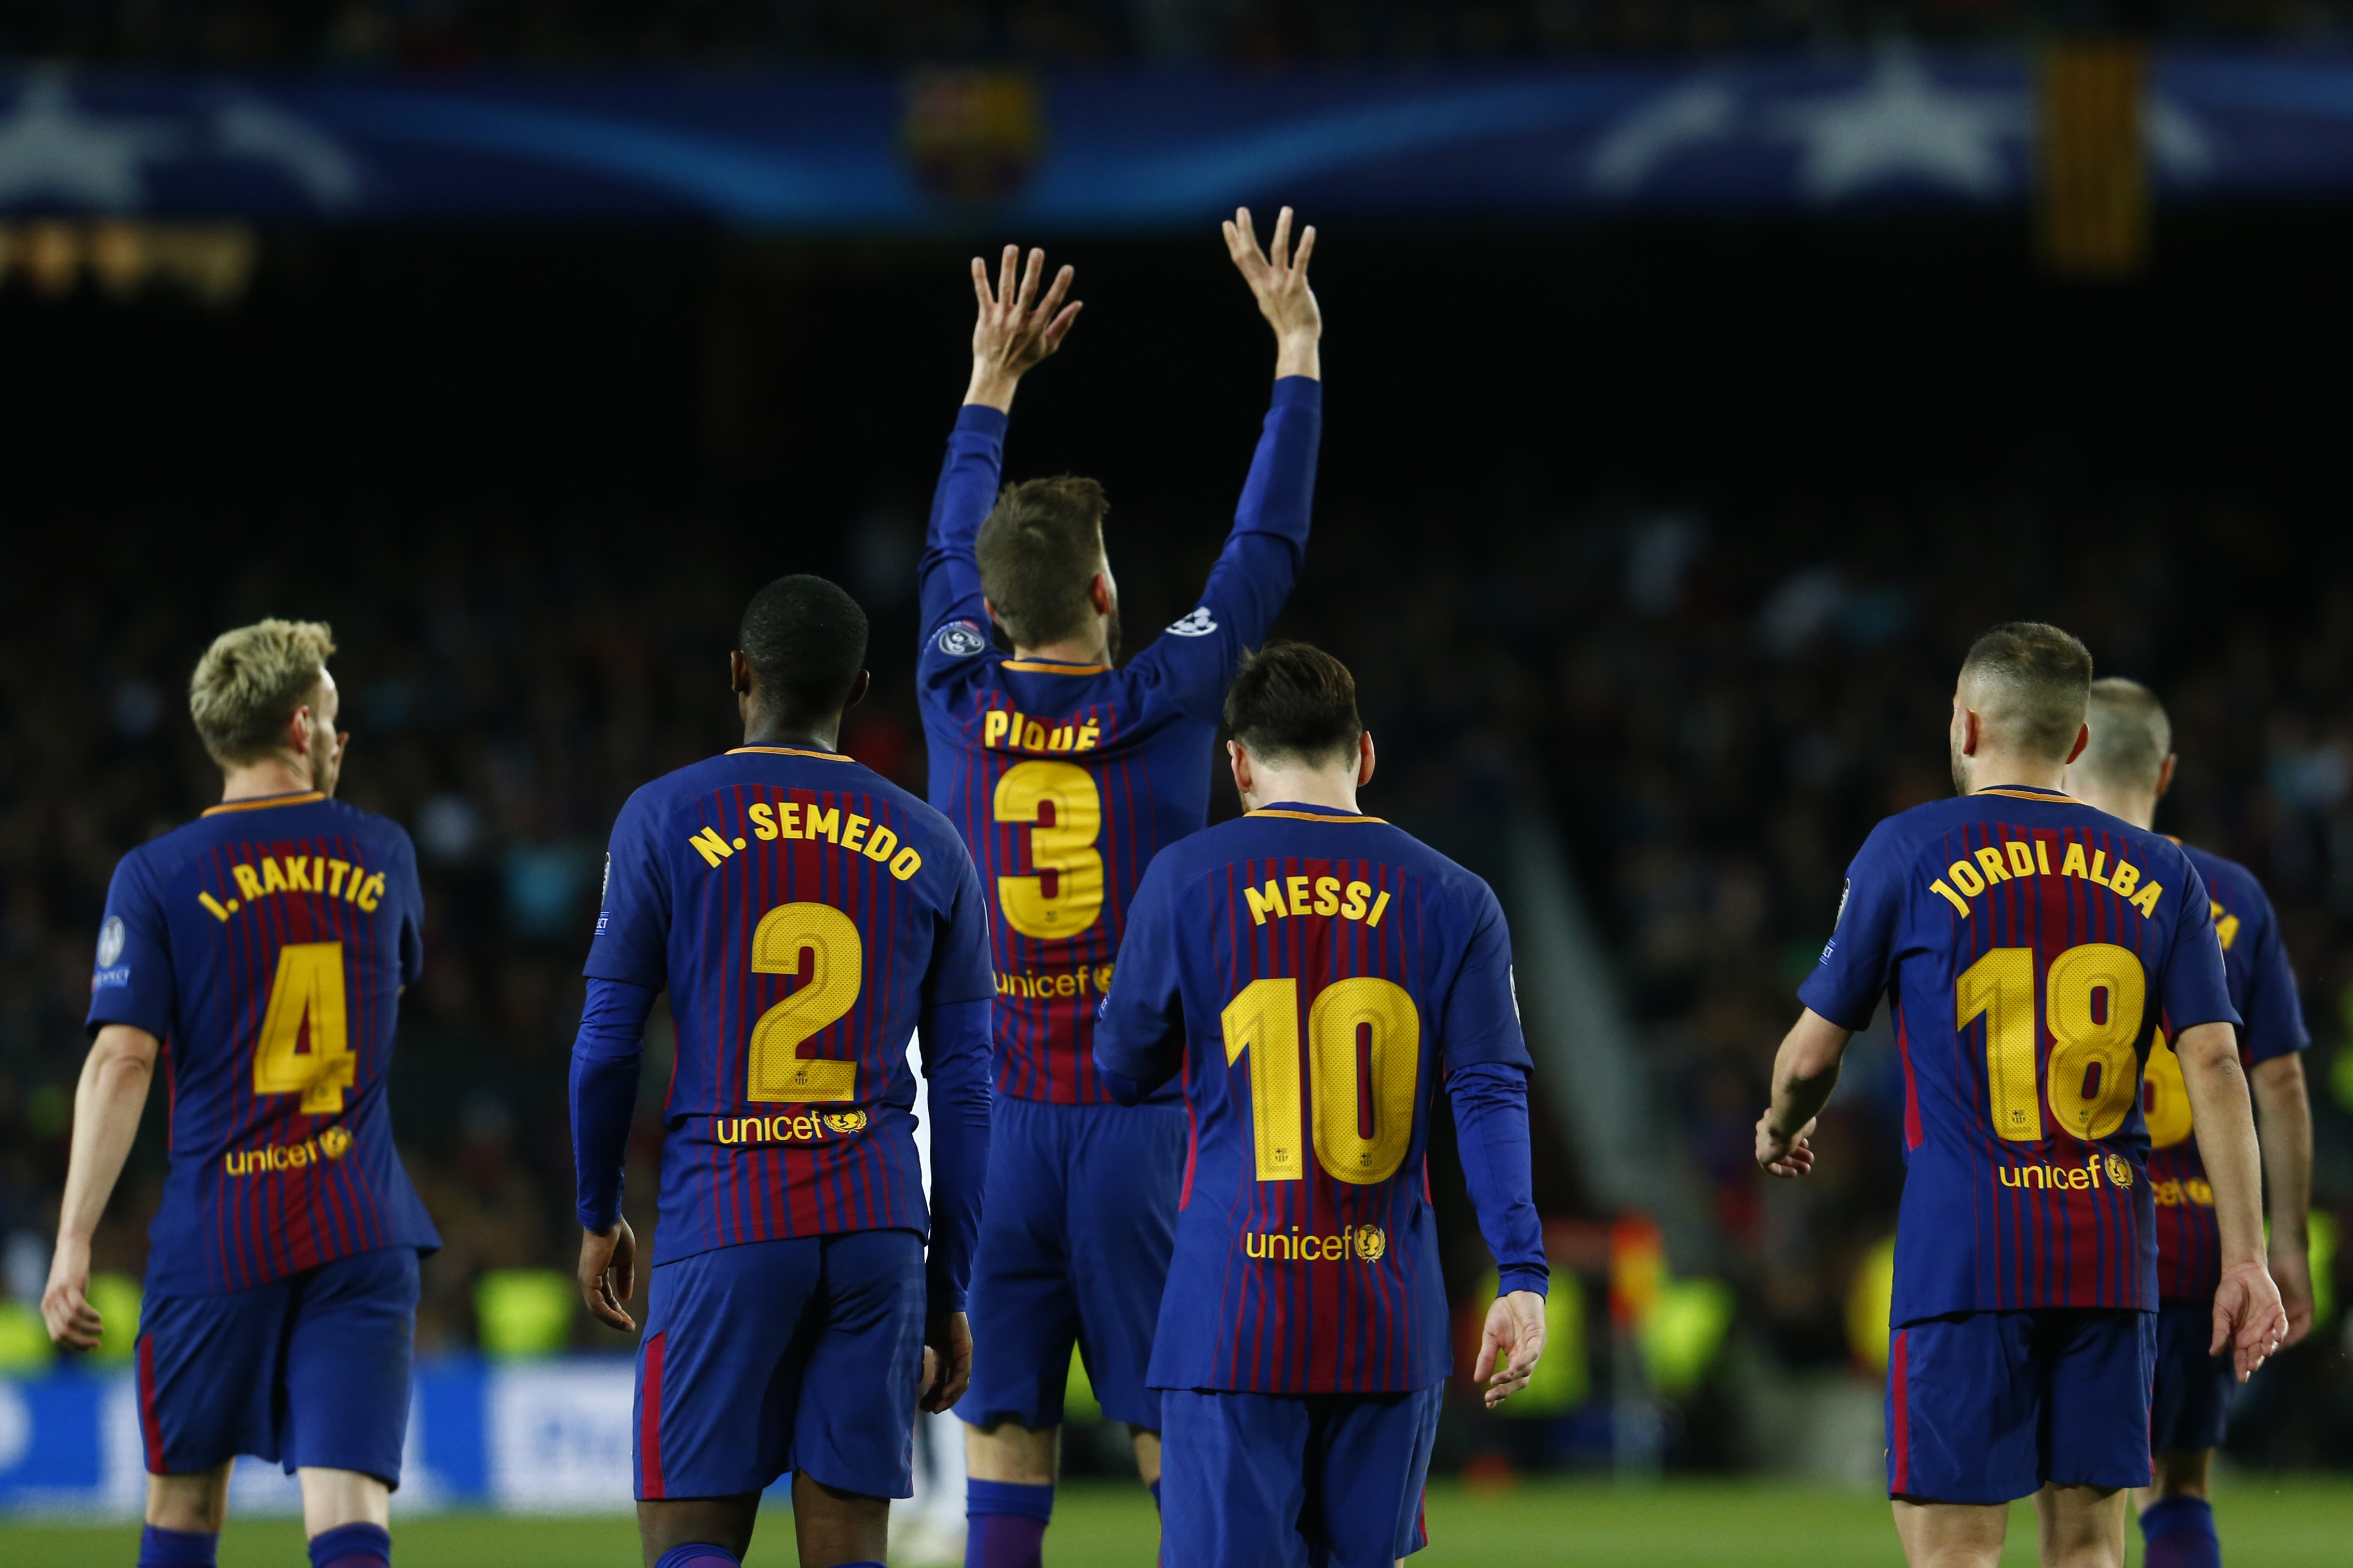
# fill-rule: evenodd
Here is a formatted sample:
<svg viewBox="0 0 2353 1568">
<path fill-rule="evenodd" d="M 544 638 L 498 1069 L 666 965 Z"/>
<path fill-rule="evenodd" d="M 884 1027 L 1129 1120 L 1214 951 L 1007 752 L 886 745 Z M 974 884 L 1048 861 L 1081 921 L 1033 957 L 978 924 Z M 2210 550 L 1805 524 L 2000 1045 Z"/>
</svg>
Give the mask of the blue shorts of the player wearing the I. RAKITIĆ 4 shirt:
<svg viewBox="0 0 2353 1568">
<path fill-rule="evenodd" d="M 186 1476 L 240 1453 L 400 1486 L 416 1347 L 416 1250 L 353 1253 L 221 1295 L 139 1307 L 146 1467 Z"/>
</svg>

